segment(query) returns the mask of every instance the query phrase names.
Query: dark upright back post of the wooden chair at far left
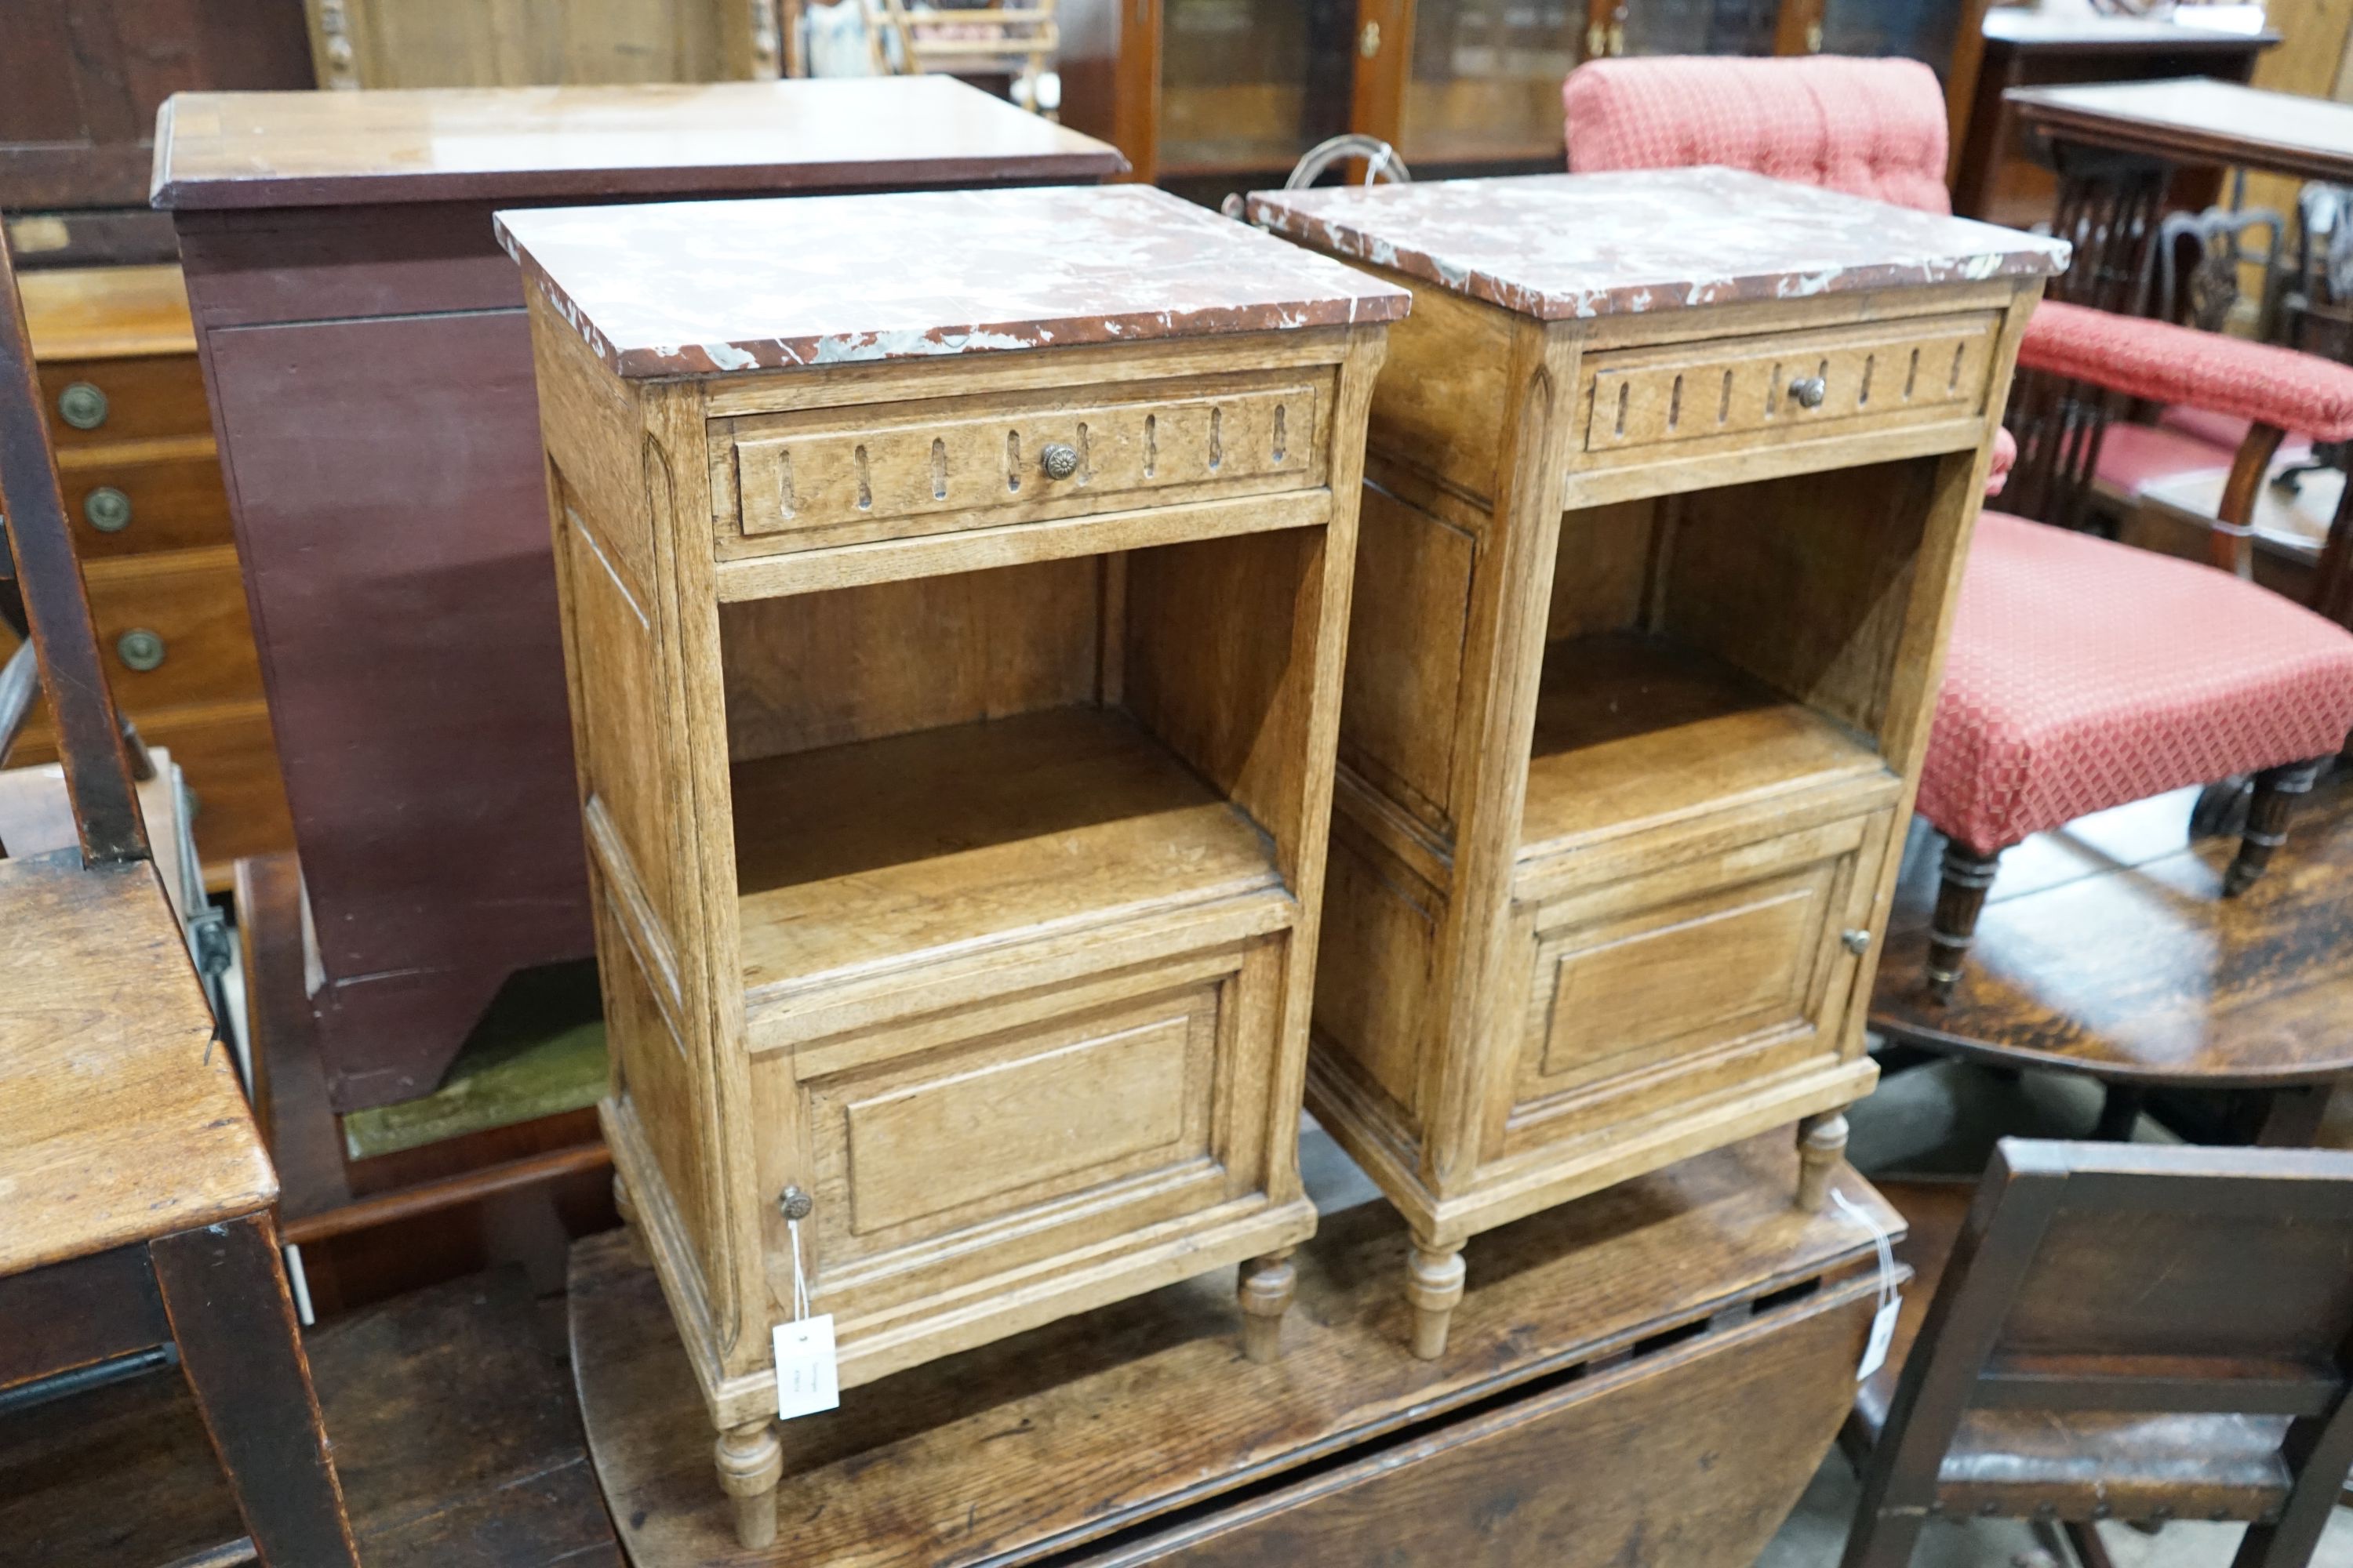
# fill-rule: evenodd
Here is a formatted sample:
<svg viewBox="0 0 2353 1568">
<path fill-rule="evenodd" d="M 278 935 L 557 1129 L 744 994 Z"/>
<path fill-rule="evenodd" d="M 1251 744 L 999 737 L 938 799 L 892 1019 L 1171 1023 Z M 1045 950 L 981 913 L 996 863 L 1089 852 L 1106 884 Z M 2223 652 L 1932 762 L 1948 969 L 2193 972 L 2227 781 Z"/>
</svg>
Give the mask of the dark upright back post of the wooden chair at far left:
<svg viewBox="0 0 2353 1568">
<path fill-rule="evenodd" d="M 73 557 L 42 404 L 33 334 L 16 294 L 16 266 L 0 237 L 0 517 L 7 527 L 9 578 L 0 597 L 7 597 L 7 609 L 21 609 L 21 630 L 40 665 L 82 860 L 146 860 L 148 837 L 134 766 L 106 684 L 82 567 Z M 14 717 L 0 733 L 12 738 L 28 708 L 31 670 L 12 661 L 0 672 L 0 719 L 9 719 L 9 710 Z"/>
</svg>

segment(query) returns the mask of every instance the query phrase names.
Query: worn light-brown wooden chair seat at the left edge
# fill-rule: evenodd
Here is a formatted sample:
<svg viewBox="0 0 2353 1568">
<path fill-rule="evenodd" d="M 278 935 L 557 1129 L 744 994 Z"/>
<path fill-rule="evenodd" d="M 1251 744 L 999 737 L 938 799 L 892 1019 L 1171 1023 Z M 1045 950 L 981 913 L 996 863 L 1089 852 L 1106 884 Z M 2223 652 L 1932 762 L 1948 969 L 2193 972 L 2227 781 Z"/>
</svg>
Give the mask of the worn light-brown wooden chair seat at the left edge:
<svg viewBox="0 0 2353 1568">
<path fill-rule="evenodd" d="M 266 1208 L 278 1178 L 155 867 L 0 860 L 0 1276 Z"/>
</svg>

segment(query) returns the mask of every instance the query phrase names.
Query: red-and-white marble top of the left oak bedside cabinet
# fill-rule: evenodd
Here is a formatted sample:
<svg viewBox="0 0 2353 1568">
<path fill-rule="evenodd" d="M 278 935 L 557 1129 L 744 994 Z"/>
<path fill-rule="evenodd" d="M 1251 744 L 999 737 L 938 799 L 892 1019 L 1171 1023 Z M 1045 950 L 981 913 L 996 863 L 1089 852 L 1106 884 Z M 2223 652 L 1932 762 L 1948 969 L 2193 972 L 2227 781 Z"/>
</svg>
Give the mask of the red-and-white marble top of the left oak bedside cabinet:
<svg viewBox="0 0 2353 1568">
<path fill-rule="evenodd" d="M 501 212 L 621 376 L 1381 322 L 1412 296 L 1151 186 Z"/>
</svg>

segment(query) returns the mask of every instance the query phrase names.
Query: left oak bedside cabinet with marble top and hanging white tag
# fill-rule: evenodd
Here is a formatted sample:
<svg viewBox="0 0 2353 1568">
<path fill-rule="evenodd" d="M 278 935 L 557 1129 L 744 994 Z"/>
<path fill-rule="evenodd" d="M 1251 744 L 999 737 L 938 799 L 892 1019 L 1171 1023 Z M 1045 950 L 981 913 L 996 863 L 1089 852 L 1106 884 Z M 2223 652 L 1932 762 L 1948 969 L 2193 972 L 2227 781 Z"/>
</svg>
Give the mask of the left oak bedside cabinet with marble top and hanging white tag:
<svg viewBox="0 0 2353 1568">
<path fill-rule="evenodd" d="M 1271 1359 L 1407 294 L 1144 186 L 499 223 L 605 1133 L 744 1540 L 795 1269 L 842 1387 L 1221 1262 Z"/>
</svg>

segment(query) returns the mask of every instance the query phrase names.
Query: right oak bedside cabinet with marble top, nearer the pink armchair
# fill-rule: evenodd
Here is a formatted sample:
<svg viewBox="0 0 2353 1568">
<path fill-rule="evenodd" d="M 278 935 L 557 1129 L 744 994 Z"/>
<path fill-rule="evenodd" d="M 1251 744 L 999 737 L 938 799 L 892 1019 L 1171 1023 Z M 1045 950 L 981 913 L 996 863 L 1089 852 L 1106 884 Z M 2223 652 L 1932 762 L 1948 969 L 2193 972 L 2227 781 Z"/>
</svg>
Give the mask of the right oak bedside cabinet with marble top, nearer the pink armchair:
<svg viewBox="0 0 2353 1568">
<path fill-rule="evenodd" d="M 1257 195 L 1372 400 L 1308 1107 L 1468 1237 L 1800 1124 L 1821 1204 L 1986 454 L 2066 244 L 1727 169 Z"/>
</svg>

